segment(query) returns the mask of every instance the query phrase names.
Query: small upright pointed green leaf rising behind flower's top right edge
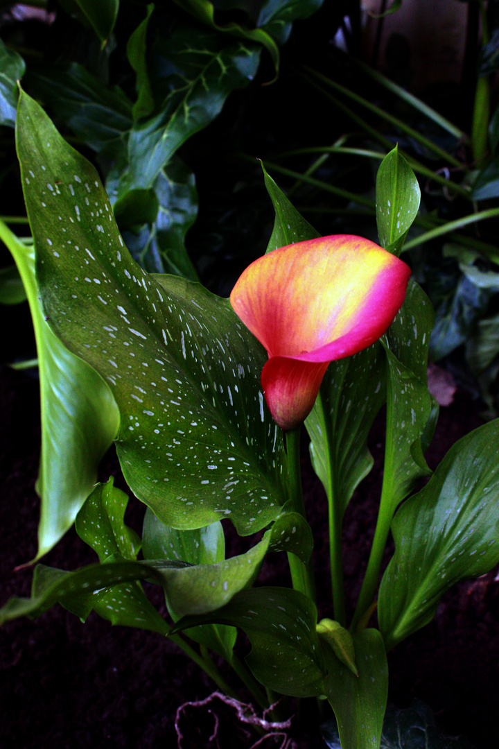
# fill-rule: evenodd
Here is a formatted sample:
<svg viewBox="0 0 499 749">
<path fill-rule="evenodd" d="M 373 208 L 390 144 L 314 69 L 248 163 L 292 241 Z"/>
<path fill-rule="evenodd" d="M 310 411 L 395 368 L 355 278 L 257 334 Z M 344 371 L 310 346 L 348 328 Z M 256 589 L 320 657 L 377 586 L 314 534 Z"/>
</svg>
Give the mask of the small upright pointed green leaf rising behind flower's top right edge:
<svg viewBox="0 0 499 749">
<path fill-rule="evenodd" d="M 417 216 L 421 192 L 414 172 L 397 146 L 385 156 L 376 176 L 376 223 L 382 247 L 400 255 Z"/>
</svg>

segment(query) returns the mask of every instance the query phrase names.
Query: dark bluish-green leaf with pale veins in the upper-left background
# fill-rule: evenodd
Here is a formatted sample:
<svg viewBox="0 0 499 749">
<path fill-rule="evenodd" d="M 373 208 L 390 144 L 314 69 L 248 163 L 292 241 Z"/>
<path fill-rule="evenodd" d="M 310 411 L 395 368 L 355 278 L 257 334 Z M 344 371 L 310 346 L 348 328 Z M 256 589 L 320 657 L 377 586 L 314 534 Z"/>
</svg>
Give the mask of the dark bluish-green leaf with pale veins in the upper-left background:
<svg viewBox="0 0 499 749">
<path fill-rule="evenodd" d="M 158 40 L 154 56 L 156 67 L 166 72 L 152 85 L 165 98 L 156 115 L 132 127 L 126 168 L 113 178 L 111 198 L 152 187 L 175 151 L 221 112 L 230 92 L 253 79 L 259 50 L 239 42 L 223 45 L 214 34 L 181 28 L 168 42 Z"/>
</svg>

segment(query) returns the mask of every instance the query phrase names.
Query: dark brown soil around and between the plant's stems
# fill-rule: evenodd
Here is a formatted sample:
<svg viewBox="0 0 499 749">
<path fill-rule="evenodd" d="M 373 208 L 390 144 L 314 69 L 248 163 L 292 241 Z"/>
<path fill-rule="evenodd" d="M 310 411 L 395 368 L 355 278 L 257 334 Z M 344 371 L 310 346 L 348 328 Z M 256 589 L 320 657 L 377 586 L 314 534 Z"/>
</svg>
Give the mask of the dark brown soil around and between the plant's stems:
<svg viewBox="0 0 499 749">
<path fill-rule="evenodd" d="M 40 443 L 38 383 L 26 374 L 0 370 L 1 589 L 0 604 L 11 595 L 29 595 L 31 570 L 16 567 L 36 553 L 38 500 L 34 491 Z M 463 392 L 441 409 L 429 463 L 435 467 L 444 452 L 480 424 L 478 408 Z M 379 437 L 377 436 L 379 434 Z M 382 424 L 371 445 L 376 464 L 382 458 Z M 304 461 L 307 453 L 304 450 Z M 102 479 L 117 476 L 112 452 Z M 316 538 L 319 616 L 328 610 L 327 521 L 322 486 L 305 473 L 307 512 Z M 345 520 L 345 574 L 349 606 L 355 601 L 373 533 L 379 473 L 364 482 L 350 503 Z M 142 508 L 131 500 L 127 521 L 140 528 Z M 272 555 L 262 571 L 265 583 L 283 583 L 280 555 Z M 45 560 L 73 569 L 94 562 L 94 554 L 71 531 Z M 414 697 L 427 703 L 439 727 L 464 734 L 477 749 L 497 749 L 499 728 L 499 584 L 492 571 L 462 583 L 448 593 L 434 622 L 389 655 L 390 698 L 408 706 Z M 153 601 L 162 607 L 159 590 Z M 244 653 L 245 643 L 241 644 Z M 173 749 L 177 746 L 175 717 L 183 749 L 256 746 L 257 733 L 236 721 L 235 711 L 213 698 L 212 683 L 168 640 L 157 634 L 111 627 L 91 615 L 85 624 L 61 607 L 31 622 L 22 619 L 0 631 L 2 749 Z M 230 674 L 224 671 L 230 679 Z M 239 692 L 242 700 L 248 694 Z M 310 720 L 311 723 L 311 720 Z M 214 736 L 215 735 L 215 736 Z M 287 740 L 287 736 L 293 740 Z M 210 739 L 212 737 L 212 739 Z M 316 730 L 276 732 L 258 743 L 264 749 L 324 747 Z"/>
</svg>

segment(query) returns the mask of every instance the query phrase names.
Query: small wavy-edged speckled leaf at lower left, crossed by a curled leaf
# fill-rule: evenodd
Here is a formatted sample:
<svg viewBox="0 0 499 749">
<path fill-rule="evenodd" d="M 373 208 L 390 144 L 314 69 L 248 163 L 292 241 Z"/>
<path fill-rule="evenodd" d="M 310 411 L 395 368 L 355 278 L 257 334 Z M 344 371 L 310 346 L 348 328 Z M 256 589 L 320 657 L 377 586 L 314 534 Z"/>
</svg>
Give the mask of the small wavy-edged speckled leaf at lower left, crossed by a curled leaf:
<svg viewBox="0 0 499 749">
<path fill-rule="evenodd" d="M 141 548 L 137 534 L 124 523 L 128 497 L 113 485 L 113 479 L 98 484 L 76 515 L 76 533 L 97 552 L 100 562 L 120 554 L 135 561 Z M 147 599 L 138 580 L 129 580 L 102 592 L 94 610 L 111 624 L 140 627 L 165 634 L 165 620 Z"/>
</svg>

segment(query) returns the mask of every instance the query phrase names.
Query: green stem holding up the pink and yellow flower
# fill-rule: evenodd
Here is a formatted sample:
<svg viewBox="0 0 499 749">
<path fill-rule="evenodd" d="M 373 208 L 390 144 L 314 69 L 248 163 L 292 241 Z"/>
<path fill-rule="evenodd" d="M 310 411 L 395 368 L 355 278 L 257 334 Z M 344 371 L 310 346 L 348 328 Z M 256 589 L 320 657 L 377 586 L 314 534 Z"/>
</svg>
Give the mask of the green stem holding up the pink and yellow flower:
<svg viewBox="0 0 499 749">
<path fill-rule="evenodd" d="M 303 501 L 303 490 L 301 488 L 300 468 L 300 427 L 286 433 L 287 466 L 288 466 L 288 489 L 293 510 L 305 517 L 305 506 Z M 313 577 L 312 560 L 305 565 L 292 552 L 288 552 L 291 579 L 293 588 L 316 600 L 316 586 Z"/>
</svg>

